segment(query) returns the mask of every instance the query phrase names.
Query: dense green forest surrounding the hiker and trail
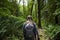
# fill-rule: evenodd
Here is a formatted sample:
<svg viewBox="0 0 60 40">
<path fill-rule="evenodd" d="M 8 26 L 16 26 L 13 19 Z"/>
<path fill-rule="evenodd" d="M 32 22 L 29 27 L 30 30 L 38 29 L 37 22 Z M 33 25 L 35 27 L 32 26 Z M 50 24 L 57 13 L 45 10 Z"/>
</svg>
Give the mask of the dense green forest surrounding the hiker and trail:
<svg viewBox="0 0 60 40">
<path fill-rule="evenodd" d="M 44 40 L 60 40 L 60 0 L 0 0 L 0 40 L 23 40 L 29 14 L 44 29 Z"/>
</svg>

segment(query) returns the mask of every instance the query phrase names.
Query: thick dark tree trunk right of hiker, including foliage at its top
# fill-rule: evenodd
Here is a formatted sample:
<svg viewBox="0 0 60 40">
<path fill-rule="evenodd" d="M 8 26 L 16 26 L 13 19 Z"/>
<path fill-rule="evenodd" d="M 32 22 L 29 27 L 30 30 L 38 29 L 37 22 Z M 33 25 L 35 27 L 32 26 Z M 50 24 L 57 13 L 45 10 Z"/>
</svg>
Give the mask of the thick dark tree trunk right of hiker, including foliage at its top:
<svg viewBox="0 0 60 40">
<path fill-rule="evenodd" d="M 43 1 L 44 0 L 37 0 L 38 2 L 38 27 L 42 28 L 41 26 L 41 9 L 43 8 Z"/>
</svg>

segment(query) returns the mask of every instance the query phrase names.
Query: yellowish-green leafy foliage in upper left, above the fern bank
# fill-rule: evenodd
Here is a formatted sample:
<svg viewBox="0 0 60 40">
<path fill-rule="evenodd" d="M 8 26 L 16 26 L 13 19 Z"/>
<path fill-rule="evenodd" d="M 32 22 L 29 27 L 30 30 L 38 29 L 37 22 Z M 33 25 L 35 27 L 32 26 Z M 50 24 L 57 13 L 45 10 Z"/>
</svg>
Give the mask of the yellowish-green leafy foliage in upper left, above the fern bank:
<svg viewBox="0 0 60 40">
<path fill-rule="evenodd" d="M 19 16 L 20 9 L 16 1 L 1 0 L 0 8 L 8 9 L 12 15 Z"/>
</svg>

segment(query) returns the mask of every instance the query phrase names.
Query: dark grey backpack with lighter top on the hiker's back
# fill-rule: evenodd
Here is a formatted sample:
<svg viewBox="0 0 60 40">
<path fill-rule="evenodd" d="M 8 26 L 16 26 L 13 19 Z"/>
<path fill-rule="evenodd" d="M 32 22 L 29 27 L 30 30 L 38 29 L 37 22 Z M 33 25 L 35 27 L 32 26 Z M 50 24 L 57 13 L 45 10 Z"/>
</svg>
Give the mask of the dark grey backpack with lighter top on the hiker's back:
<svg viewBox="0 0 60 40">
<path fill-rule="evenodd" d="M 33 23 L 27 23 L 25 25 L 25 30 L 26 30 L 26 37 L 34 37 L 34 25 Z"/>
</svg>

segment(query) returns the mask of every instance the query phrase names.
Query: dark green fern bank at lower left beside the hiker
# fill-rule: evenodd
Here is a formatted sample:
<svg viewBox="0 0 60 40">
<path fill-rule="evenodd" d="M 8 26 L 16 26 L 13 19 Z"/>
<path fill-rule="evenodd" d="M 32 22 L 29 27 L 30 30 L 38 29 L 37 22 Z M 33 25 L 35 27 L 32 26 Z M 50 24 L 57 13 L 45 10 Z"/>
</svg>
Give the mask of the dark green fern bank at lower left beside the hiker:
<svg viewBox="0 0 60 40">
<path fill-rule="evenodd" d="M 25 21 L 24 18 L 2 14 L 0 15 L 0 19 L 0 39 L 5 38 L 7 40 L 14 35 L 16 38 L 22 40 L 22 24 Z"/>
</svg>

